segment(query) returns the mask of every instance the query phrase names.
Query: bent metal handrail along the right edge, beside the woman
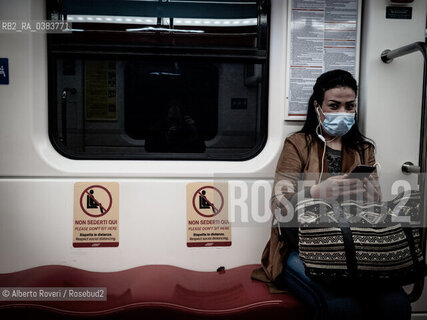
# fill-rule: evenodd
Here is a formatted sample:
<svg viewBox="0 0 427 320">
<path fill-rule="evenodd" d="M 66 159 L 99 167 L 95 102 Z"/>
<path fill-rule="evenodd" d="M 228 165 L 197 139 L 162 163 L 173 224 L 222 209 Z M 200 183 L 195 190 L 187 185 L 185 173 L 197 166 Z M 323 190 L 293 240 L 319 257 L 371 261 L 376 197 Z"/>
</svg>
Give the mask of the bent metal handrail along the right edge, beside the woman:
<svg viewBox="0 0 427 320">
<path fill-rule="evenodd" d="M 424 77 L 423 77 L 423 95 L 421 102 L 421 132 L 420 132 L 420 146 L 419 146 L 419 166 L 420 166 L 420 175 L 419 175 L 419 185 L 420 185 L 420 194 L 421 194 L 421 207 L 420 211 L 422 212 L 422 252 L 425 254 L 426 252 L 426 228 L 425 228 L 425 220 L 426 219 L 426 209 L 427 209 L 427 197 L 425 197 L 425 193 L 427 191 L 427 131 L 425 130 L 425 125 L 427 124 L 427 97 L 426 97 L 426 86 L 427 86 L 427 45 L 424 42 L 415 42 L 411 43 L 407 46 L 400 47 L 395 50 L 384 50 L 381 53 L 381 60 L 384 63 L 391 63 L 393 59 L 408 55 L 413 52 L 420 51 L 424 57 Z M 409 300 L 414 302 L 418 300 L 423 292 L 424 288 L 424 277 L 421 277 L 419 281 L 417 281 L 412 291 L 408 294 Z"/>
</svg>

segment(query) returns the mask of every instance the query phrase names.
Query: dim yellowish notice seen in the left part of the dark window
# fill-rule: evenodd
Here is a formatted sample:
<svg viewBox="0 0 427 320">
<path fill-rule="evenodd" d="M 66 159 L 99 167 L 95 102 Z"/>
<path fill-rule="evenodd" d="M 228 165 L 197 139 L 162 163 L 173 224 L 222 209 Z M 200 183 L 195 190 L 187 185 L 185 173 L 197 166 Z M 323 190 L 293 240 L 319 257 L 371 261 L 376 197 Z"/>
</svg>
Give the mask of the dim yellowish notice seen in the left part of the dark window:
<svg viewBox="0 0 427 320">
<path fill-rule="evenodd" d="M 117 119 L 115 61 L 85 61 L 86 120 Z"/>
</svg>

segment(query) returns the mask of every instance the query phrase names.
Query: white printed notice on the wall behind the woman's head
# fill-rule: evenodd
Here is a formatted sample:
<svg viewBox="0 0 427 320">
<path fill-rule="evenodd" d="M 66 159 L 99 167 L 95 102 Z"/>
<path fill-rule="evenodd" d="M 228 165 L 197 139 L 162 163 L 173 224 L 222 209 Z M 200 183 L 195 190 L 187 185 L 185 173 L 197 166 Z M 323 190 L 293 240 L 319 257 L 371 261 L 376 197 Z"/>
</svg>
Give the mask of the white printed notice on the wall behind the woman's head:
<svg viewBox="0 0 427 320">
<path fill-rule="evenodd" d="M 313 85 L 333 69 L 356 77 L 358 0 L 292 0 L 287 119 L 305 119 Z"/>
</svg>

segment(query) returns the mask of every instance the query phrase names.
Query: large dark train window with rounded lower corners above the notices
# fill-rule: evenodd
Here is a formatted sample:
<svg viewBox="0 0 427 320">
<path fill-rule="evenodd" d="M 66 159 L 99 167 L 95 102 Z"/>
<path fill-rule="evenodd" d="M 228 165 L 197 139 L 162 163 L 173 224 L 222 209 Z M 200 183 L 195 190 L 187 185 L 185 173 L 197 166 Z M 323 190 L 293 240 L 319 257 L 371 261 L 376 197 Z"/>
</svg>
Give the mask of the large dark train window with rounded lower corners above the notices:
<svg viewBox="0 0 427 320">
<path fill-rule="evenodd" d="M 73 159 L 247 160 L 267 135 L 269 1 L 47 0 L 49 135 Z"/>
</svg>

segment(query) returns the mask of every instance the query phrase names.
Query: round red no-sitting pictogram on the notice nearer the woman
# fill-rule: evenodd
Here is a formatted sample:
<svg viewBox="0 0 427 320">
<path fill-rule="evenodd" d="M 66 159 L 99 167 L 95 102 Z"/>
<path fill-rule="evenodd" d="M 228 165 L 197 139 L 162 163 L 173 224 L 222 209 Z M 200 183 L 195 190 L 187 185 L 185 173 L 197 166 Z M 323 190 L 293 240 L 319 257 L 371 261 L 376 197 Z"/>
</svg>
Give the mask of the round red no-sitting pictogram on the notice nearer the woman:
<svg viewBox="0 0 427 320">
<path fill-rule="evenodd" d="M 221 212 L 224 207 L 224 196 L 213 186 L 203 186 L 196 190 L 192 202 L 197 214 L 210 218 Z"/>
</svg>

